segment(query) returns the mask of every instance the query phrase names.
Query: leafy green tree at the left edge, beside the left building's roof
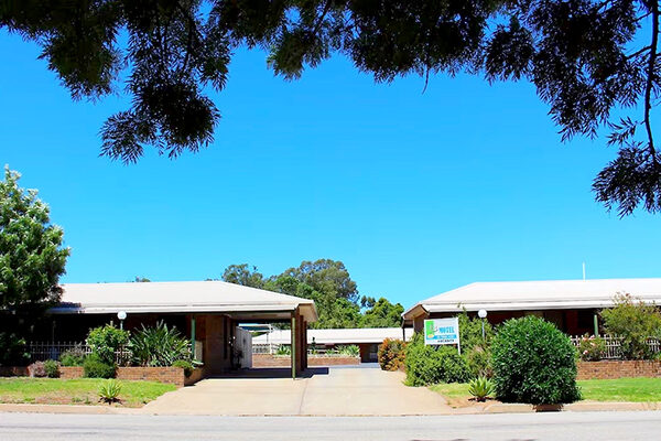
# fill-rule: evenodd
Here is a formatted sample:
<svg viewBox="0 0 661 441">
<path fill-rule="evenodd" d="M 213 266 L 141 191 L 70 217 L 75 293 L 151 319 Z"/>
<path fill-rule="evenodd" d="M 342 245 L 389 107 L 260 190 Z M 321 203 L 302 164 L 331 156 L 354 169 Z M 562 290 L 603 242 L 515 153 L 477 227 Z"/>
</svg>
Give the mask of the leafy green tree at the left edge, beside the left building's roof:
<svg viewBox="0 0 661 441">
<path fill-rule="evenodd" d="M 43 310 L 59 301 L 69 249 L 62 248 L 64 233 L 51 224 L 48 206 L 19 179 L 7 166 L 0 182 L 0 310 Z"/>
</svg>

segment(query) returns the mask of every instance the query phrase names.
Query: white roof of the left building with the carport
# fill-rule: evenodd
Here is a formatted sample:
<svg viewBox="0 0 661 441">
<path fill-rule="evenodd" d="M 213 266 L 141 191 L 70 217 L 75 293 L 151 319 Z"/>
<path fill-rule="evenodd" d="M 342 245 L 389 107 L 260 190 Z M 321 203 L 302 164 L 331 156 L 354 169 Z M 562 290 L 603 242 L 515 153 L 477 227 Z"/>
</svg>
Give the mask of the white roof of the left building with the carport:
<svg viewBox="0 0 661 441">
<path fill-rule="evenodd" d="M 221 281 L 66 283 L 52 313 L 291 312 L 317 319 L 314 301 Z"/>
</svg>

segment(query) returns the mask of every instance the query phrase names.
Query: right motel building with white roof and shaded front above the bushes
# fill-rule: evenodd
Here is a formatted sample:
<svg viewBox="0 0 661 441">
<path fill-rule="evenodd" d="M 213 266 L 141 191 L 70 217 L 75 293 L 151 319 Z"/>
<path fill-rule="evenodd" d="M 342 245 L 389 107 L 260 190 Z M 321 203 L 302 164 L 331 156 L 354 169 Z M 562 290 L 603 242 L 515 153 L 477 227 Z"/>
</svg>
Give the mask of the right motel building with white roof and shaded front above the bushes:
<svg viewBox="0 0 661 441">
<path fill-rule="evenodd" d="M 568 335 L 598 335 L 598 313 L 611 308 L 617 294 L 661 305 L 661 279 L 476 282 L 422 300 L 402 316 L 404 326 L 419 332 L 425 319 L 456 316 L 464 310 L 476 316 L 484 310 L 491 324 L 538 315 Z"/>
</svg>

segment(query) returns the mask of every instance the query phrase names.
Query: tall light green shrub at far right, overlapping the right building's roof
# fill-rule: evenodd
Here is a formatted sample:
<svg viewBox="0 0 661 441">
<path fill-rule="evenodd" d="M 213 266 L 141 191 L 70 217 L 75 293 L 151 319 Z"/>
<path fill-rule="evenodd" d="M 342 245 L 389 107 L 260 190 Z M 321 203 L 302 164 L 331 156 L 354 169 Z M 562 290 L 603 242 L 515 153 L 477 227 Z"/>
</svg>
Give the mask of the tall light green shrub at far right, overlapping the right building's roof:
<svg viewBox="0 0 661 441">
<path fill-rule="evenodd" d="M 648 338 L 661 335 L 661 312 L 653 304 L 629 294 L 614 298 L 615 306 L 602 311 L 606 333 L 620 337 L 620 356 L 625 359 L 650 359 L 654 356 Z"/>
</svg>

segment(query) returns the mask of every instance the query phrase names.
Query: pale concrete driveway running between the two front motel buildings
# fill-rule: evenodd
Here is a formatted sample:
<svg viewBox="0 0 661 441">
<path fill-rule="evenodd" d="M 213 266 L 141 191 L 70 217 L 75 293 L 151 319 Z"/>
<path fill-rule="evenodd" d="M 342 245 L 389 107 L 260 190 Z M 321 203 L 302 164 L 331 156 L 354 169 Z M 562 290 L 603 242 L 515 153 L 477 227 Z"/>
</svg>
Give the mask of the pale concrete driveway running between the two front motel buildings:
<svg viewBox="0 0 661 441">
<path fill-rule="evenodd" d="M 452 410 L 438 394 L 407 387 L 402 373 L 365 367 L 310 369 L 285 378 L 286 369 L 252 369 L 242 376 L 210 378 L 169 392 L 140 409 L 155 415 L 227 416 L 399 416 Z M 266 377 L 266 378 L 264 378 Z"/>
</svg>

